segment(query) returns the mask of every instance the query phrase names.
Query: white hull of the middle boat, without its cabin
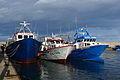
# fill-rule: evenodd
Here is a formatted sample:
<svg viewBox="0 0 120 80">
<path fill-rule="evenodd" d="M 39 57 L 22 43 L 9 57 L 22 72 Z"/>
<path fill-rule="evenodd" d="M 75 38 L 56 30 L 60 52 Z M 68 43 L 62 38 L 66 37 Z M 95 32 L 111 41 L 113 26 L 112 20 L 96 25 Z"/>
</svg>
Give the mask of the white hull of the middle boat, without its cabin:
<svg viewBox="0 0 120 80">
<path fill-rule="evenodd" d="M 73 46 L 63 46 L 59 48 L 49 49 L 43 52 L 40 55 L 40 58 L 45 60 L 66 60 L 73 49 Z"/>
</svg>

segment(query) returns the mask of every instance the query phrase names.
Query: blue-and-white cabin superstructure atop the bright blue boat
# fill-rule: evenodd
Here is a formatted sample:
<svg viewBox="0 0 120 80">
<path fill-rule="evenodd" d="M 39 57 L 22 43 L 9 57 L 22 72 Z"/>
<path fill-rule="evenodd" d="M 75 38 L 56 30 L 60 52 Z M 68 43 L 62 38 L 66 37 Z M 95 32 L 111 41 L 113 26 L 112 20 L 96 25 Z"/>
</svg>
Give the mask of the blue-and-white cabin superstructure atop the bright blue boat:
<svg viewBox="0 0 120 80">
<path fill-rule="evenodd" d="M 73 44 L 76 46 L 76 48 L 85 48 L 99 45 L 100 43 L 96 42 L 95 36 L 89 35 L 88 31 L 82 28 L 76 31 L 75 41 Z"/>
</svg>

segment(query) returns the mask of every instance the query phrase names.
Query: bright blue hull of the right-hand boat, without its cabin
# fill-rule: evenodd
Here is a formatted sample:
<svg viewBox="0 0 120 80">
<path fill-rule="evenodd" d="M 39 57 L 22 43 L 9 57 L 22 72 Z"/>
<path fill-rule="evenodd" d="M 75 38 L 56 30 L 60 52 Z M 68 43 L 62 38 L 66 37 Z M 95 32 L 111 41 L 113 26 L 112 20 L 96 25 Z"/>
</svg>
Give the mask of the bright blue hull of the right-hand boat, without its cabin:
<svg viewBox="0 0 120 80">
<path fill-rule="evenodd" d="M 68 59 L 103 61 L 103 59 L 100 58 L 100 55 L 107 47 L 108 45 L 97 45 L 97 46 L 91 46 L 86 49 L 75 49 L 68 56 Z"/>
</svg>

